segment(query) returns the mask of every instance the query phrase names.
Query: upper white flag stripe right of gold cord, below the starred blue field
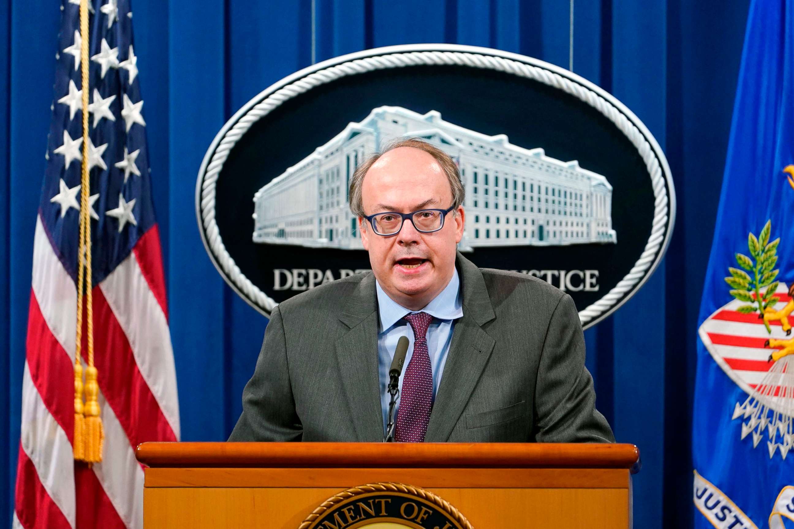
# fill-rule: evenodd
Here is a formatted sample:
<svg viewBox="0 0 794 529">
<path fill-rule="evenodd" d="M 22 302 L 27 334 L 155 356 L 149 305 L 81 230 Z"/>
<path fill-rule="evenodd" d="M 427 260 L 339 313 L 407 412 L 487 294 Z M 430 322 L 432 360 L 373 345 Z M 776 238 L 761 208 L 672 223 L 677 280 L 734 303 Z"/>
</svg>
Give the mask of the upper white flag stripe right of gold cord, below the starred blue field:
<svg viewBox="0 0 794 529">
<path fill-rule="evenodd" d="M 141 376 L 179 439 L 179 398 L 171 333 L 135 253 L 130 252 L 99 288 L 129 341 Z"/>
</svg>

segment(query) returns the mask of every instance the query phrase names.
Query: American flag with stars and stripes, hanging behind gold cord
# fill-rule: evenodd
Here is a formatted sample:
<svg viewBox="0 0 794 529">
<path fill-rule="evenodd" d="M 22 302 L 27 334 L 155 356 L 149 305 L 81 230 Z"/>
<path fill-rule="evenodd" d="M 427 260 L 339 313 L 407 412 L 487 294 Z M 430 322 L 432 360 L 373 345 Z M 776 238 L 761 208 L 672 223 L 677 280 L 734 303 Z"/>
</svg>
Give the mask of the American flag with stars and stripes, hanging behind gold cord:
<svg viewBox="0 0 794 529">
<path fill-rule="evenodd" d="M 79 0 L 64 0 L 33 247 L 13 527 L 142 527 L 134 448 L 179 439 L 179 405 L 152 208 L 141 79 L 127 0 L 91 0 L 81 86 Z M 83 138 L 82 90 L 90 90 Z M 102 462 L 72 456 L 80 163 L 91 170 L 94 363 Z M 33 212 L 31 212 L 33 214 Z M 85 332 L 83 332 L 83 340 Z M 87 355 L 83 345 L 82 355 Z"/>
</svg>

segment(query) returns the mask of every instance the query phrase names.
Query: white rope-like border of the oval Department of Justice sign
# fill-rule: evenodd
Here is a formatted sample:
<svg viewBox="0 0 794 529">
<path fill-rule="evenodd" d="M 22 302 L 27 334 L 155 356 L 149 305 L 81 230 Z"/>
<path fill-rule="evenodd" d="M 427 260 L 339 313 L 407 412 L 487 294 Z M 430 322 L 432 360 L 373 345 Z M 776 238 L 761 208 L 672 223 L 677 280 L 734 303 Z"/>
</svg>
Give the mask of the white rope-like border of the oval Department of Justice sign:
<svg viewBox="0 0 794 529">
<path fill-rule="evenodd" d="M 283 102 L 295 98 L 327 82 L 332 82 L 345 75 L 363 74 L 369 71 L 383 70 L 387 68 L 407 67 L 407 66 L 468 66 L 502 71 L 518 77 L 532 79 L 542 82 L 547 86 L 553 86 L 579 98 L 580 101 L 587 103 L 592 108 L 598 110 L 603 116 L 607 117 L 623 133 L 634 148 L 642 157 L 646 170 L 650 175 L 651 186 L 653 188 L 654 208 L 653 223 L 651 232 L 645 249 L 639 259 L 631 268 L 628 274 L 622 278 L 607 294 L 595 301 L 592 305 L 579 312 L 582 324 L 586 324 L 607 311 L 612 309 L 624 295 L 634 289 L 643 278 L 654 261 L 657 254 L 665 246 L 665 236 L 667 234 L 669 220 L 669 197 L 666 192 L 667 182 L 662 169 L 662 163 L 657 158 L 646 136 L 637 128 L 636 125 L 621 110 L 611 102 L 601 97 L 595 91 L 577 82 L 566 79 L 556 72 L 546 70 L 543 67 L 532 64 L 522 63 L 514 59 L 507 59 L 499 56 L 485 56 L 472 52 L 447 52 L 447 51 L 426 51 L 426 52 L 395 52 L 381 56 L 364 57 L 361 59 L 349 60 L 334 66 L 326 67 L 320 71 L 315 71 L 305 77 L 283 86 L 265 98 L 263 101 L 253 105 L 237 123 L 233 125 L 218 143 L 215 151 L 207 164 L 204 174 L 199 174 L 201 191 L 198 194 L 197 208 L 201 212 L 201 224 L 204 231 L 204 238 L 211 253 L 216 259 L 216 263 L 221 267 L 223 274 L 229 278 L 233 286 L 236 287 L 245 297 L 252 300 L 255 305 L 271 312 L 276 307 L 276 301 L 268 297 L 249 278 L 242 274 L 240 268 L 234 263 L 234 259 L 226 251 L 225 245 L 221 240 L 218 224 L 215 222 L 215 186 L 218 182 L 223 164 L 229 156 L 229 151 L 237 144 L 237 141 L 259 121 L 262 117 L 271 113 Z M 672 183 L 671 183 L 672 186 Z M 627 299 L 627 298 L 626 298 Z"/>
</svg>

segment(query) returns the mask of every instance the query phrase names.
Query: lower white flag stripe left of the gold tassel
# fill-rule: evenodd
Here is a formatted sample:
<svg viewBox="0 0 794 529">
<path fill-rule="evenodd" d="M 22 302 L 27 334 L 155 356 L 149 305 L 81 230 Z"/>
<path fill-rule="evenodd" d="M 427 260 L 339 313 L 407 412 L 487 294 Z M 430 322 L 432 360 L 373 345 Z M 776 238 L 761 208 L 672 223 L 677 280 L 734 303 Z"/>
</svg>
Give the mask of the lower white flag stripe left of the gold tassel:
<svg viewBox="0 0 794 529">
<path fill-rule="evenodd" d="M 75 462 L 69 438 L 41 400 L 28 362 L 22 374 L 20 442 L 53 503 L 75 527 Z"/>
</svg>

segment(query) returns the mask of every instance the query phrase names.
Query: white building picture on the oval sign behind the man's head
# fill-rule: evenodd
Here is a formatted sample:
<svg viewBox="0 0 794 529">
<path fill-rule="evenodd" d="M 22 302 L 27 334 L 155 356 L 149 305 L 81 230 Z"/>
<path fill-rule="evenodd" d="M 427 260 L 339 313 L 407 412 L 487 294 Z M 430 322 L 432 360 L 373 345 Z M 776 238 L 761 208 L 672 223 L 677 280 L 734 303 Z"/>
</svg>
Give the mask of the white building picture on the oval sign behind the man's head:
<svg viewBox="0 0 794 529">
<path fill-rule="evenodd" d="M 256 191 L 255 243 L 363 249 L 349 182 L 367 155 L 415 137 L 457 163 L 466 190 L 461 251 L 476 247 L 616 243 L 612 186 L 603 175 L 441 119 L 380 106 Z"/>
</svg>

